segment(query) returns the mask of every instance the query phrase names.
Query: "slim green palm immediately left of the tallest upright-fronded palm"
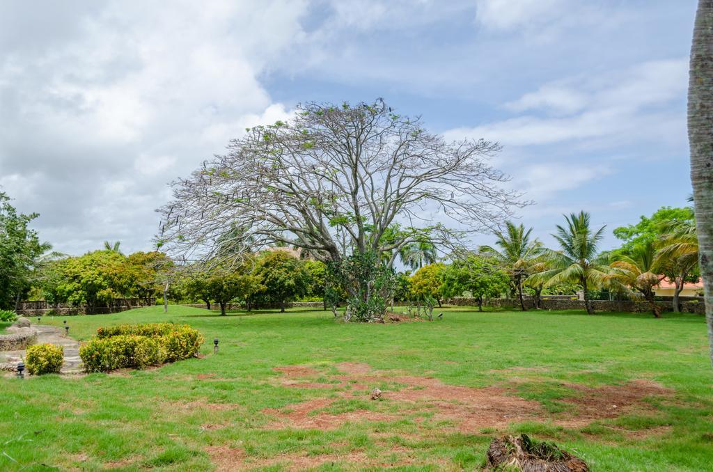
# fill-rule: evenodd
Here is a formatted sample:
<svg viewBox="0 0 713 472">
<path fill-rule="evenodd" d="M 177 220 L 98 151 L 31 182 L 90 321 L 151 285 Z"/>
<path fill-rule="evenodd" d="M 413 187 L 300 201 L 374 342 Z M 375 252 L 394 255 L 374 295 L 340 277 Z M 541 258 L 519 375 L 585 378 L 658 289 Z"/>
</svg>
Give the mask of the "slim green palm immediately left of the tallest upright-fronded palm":
<svg viewBox="0 0 713 472">
<path fill-rule="evenodd" d="M 481 246 L 480 252 L 494 257 L 511 278 L 513 287 L 520 299 L 520 308 L 525 309 L 523 301 L 523 282 L 530 275 L 532 265 L 545 252 L 543 245 L 538 240 L 530 241 L 530 234 L 533 229 L 525 230 L 522 223 L 515 226 L 515 223 L 507 221 L 505 223 L 506 232 L 496 232 L 498 238 L 495 245 L 497 250 L 491 246 Z"/>
</svg>

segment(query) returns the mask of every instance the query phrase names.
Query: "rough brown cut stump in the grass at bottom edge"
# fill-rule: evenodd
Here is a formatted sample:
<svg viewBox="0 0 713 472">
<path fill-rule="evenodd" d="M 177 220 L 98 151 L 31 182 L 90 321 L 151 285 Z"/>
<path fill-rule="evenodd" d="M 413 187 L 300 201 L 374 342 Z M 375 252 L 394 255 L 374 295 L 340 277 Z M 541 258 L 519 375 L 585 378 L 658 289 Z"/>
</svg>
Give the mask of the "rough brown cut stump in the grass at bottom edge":
<svg viewBox="0 0 713 472">
<path fill-rule="evenodd" d="M 488 448 L 486 471 L 588 472 L 582 459 L 553 443 L 533 441 L 526 434 L 495 438 Z"/>
</svg>

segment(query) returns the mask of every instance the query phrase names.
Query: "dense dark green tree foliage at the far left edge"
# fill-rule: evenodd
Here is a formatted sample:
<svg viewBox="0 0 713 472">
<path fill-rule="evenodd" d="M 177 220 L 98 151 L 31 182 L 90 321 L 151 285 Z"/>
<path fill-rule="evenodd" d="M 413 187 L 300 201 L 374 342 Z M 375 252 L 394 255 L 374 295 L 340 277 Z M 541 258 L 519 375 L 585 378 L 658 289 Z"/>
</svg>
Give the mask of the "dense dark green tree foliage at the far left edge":
<svg viewBox="0 0 713 472">
<path fill-rule="evenodd" d="M 16 297 L 29 290 L 40 256 L 51 249 L 29 228 L 38 216 L 18 213 L 10 198 L 0 191 L 0 309 L 14 306 Z"/>
</svg>

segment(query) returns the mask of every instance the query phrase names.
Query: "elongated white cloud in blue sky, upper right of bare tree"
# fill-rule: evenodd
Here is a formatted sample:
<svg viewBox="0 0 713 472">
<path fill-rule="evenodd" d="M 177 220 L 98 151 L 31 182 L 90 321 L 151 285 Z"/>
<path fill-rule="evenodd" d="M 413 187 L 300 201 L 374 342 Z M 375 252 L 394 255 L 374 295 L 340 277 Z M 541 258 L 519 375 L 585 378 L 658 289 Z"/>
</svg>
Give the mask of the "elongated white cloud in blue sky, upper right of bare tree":
<svg viewBox="0 0 713 472">
<path fill-rule="evenodd" d="M 456 128 L 446 136 L 486 138 L 508 146 L 571 140 L 622 143 L 642 137 L 662 140 L 667 134 L 678 135 L 682 122 L 669 108 L 660 107 L 684 96 L 686 77 L 687 59 L 681 58 L 642 63 L 596 78 L 578 76 L 545 84 L 506 104 L 511 111 L 532 113 L 475 128 Z M 552 111 L 565 116 L 547 116 Z M 674 123 L 678 126 L 671 128 Z"/>
</svg>

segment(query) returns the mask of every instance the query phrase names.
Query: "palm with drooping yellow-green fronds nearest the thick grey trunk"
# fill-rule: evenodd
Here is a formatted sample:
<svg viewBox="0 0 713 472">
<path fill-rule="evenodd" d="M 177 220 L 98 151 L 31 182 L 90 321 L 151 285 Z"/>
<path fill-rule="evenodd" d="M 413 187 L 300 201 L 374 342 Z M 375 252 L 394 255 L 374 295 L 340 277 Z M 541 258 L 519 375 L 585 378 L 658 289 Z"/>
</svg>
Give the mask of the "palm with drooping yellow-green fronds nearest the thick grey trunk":
<svg viewBox="0 0 713 472">
<path fill-rule="evenodd" d="M 674 282 L 673 311 L 680 312 L 679 295 L 684 283 L 698 264 L 698 236 L 694 221 L 672 221 L 662 228 L 665 235 L 660 242 L 660 250 L 655 265 L 665 268 L 669 279 Z"/>
</svg>

